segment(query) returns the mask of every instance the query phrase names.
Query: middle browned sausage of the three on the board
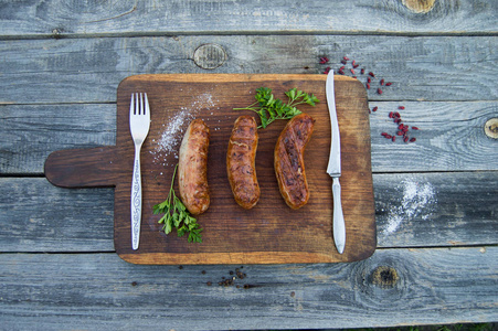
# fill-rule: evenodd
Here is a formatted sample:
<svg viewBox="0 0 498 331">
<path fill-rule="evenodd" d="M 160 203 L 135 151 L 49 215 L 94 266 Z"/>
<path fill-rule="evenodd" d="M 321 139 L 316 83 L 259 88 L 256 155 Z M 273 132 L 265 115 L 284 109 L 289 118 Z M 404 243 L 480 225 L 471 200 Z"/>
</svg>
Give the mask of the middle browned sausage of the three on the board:
<svg viewBox="0 0 498 331">
<path fill-rule="evenodd" d="M 229 141 L 226 172 L 236 203 L 246 210 L 254 207 L 261 195 L 255 166 L 257 140 L 254 117 L 239 117 Z"/>
</svg>

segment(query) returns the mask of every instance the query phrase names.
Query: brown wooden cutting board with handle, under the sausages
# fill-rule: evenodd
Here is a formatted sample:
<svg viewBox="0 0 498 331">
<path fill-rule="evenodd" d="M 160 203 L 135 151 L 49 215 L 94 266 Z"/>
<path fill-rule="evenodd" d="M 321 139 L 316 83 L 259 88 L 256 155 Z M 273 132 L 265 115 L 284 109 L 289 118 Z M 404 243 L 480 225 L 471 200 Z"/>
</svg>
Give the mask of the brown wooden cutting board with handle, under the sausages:
<svg viewBox="0 0 498 331">
<path fill-rule="evenodd" d="M 338 254 L 332 239 L 331 178 L 326 173 L 330 148 L 330 120 L 325 95 L 326 75 L 171 74 L 137 75 L 124 79 L 117 90 L 116 146 L 62 150 L 52 153 L 45 174 L 66 188 L 115 186 L 115 248 L 135 264 L 288 264 L 353 261 L 371 256 L 377 246 L 370 126 L 363 85 L 336 76 L 336 103 L 341 134 L 342 207 L 347 244 Z M 297 87 L 315 94 L 321 103 L 300 110 L 316 119 L 305 151 L 310 188 L 306 206 L 290 210 L 282 199 L 273 168 L 276 139 L 286 121 L 259 129 L 256 172 L 262 191 L 250 211 L 232 195 L 225 157 L 236 111 L 254 103 L 255 89 L 269 87 L 275 97 Z M 129 134 L 129 99 L 134 92 L 149 97 L 151 126 L 141 151 L 144 209 L 140 247 L 131 249 L 130 186 L 134 145 Z M 255 114 L 254 114 L 255 115 Z M 168 236 L 152 206 L 169 192 L 183 131 L 193 118 L 211 129 L 208 179 L 211 205 L 198 216 L 202 244 L 187 242 L 176 232 Z M 258 118 L 256 118 L 259 121 Z M 178 195 L 178 186 L 174 183 Z"/>
</svg>

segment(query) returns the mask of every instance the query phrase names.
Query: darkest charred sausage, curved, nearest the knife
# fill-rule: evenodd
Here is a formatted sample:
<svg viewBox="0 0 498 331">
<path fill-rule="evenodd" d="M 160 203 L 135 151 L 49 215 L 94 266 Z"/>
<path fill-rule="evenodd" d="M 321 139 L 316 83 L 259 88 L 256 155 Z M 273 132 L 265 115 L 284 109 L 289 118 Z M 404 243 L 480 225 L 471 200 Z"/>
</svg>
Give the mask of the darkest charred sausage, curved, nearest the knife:
<svg viewBox="0 0 498 331">
<path fill-rule="evenodd" d="M 275 174 L 285 202 L 293 210 L 304 206 L 309 199 L 304 152 L 311 139 L 315 120 L 307 114 L 293 117 L 275 146 Z"/>
</svg>

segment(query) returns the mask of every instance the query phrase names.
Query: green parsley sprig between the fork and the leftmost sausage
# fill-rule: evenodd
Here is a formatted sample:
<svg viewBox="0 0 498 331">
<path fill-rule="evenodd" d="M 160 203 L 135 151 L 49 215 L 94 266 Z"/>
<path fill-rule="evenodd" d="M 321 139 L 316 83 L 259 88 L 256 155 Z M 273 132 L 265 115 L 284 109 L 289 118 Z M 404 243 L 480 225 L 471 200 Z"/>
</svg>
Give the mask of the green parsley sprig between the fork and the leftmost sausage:
<svg viewBox="0 0 498 331">
<path fill-rule="evenodd" d="M 165 231 L 166 234 L 171 233 L 174 226 L 179 237 L 189 233 L 189 243 L 202 243 L 202 228 L 199 226 L 195 217 L 190 215 L 186 205 L 174 194 L 173 183 L 177 168 L 178 164 L 174 167 L 168 197 L 152 207 L 153 214 L 165 214 L 158 223 L 165 224 L 162 231 Z"/>
</svg>

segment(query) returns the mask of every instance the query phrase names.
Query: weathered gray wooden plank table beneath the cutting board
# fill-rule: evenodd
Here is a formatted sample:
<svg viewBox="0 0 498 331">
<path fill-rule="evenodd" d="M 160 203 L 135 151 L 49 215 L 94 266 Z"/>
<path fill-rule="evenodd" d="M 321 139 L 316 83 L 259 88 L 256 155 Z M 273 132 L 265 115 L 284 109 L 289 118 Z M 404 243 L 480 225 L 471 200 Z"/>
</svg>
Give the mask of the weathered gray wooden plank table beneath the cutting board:
<svg viewBox="0 0 498 331">
<path fill-rule="evenodd" d="M 497 17 L 496 0 L 1 0 L 0 329 L 498 321 Z M 115 143 L 129 75 L 318 74 L 343 56 L 375 74 L 367 260 L 131 265 L 114 252 L 113 189 L 44 178 L 52 151 Z M 381 136 L 399 106 L 413 143 Z M 235 268 L 246 276 L 219 286 Z"/>
</svg>

